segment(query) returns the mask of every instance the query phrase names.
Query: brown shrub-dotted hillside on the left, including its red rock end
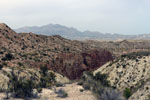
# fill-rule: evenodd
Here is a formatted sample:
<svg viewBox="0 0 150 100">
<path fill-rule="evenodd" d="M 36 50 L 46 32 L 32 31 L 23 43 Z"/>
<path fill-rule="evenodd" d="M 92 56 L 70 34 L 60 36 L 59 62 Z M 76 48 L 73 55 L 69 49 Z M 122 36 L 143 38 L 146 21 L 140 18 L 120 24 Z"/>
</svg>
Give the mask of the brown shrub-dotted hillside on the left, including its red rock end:
<svg viewBox="0 0 150 100">
<path fill-rule="evenodd" d="M 0 24 L 0 64 L 2 67 L 40 68 L 46 65 L 69 79 L 78 79 L 84 71 L 94 70 L 111 61 L 104 49 L 56 36 L 15 33 Z"/>
</svg>

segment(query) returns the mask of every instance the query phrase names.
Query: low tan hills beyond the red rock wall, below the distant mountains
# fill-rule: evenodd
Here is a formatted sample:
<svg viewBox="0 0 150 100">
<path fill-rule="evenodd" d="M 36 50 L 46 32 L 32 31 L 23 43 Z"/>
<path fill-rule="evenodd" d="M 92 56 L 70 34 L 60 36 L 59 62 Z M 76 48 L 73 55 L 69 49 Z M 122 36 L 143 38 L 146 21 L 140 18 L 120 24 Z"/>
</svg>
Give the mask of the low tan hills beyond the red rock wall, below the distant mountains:
<svg viewBox="0 0 150 100">
<path fill-rule="evenodd" d="M 94 48 L 105 48 L 118 57 L 122 54 L 127 54 L 137 51 L 150 51 L 149 40 L 121 40 L 121 41 L 84 41 Z"/>
</svg>

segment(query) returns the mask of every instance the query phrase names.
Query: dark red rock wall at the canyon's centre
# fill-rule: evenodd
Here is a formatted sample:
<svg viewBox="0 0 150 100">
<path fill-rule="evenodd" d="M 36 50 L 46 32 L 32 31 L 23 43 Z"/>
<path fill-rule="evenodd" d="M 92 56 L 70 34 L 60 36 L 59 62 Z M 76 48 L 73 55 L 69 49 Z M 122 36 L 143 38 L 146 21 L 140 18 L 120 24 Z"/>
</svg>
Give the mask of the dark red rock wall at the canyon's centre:
<svg viewBox="0 0 150 100">
<path fill-rule="evenodd" d="M 71 80 L 78 79 L 84 71 L 92 71 L 108 61 L 113 60 L 113 57 L 108 51 L 88 51 L 82 54 L 64 53 L 60 54 L 53 62 L 47 66 Z"/>
</svg>

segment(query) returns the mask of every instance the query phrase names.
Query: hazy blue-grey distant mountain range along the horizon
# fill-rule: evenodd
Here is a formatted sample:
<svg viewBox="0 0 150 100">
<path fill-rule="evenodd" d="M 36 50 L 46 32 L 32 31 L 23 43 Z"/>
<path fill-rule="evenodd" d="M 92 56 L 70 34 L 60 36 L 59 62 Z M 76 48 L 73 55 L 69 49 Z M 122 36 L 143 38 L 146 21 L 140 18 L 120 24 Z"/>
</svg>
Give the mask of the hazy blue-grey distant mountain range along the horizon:
<svg viewBox="0 0 150 100">
<path fill-rule="evenodd" d="M 17 33 L 32 32 L 43 35 L 60 35 L 68 39 L 77 40 L 122 40 L 122 39 L 150 39 L 150 34 L 122 35 L 111 33 L 100 33 L 92 31 L 81 32 L 73 27 L 66 27 L 59 24 L 48 24 L 44 26 L 22 27 L 15 29 Z"/>
</svg>

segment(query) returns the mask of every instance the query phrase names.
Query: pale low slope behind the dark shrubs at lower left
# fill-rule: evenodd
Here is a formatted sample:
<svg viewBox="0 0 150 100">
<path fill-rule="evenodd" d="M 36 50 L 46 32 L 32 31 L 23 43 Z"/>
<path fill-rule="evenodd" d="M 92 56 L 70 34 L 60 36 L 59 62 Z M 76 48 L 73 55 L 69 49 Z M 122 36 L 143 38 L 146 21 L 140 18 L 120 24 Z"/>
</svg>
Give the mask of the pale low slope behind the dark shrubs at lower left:
<svg viewBox="0 0 150 100">
<path fill-rule="evenodd" d="M 35 84 L 39 84 L 41 73 L 40 70 L 34 68 L 2 68 L 0 70 L 0 91 L 5 91 L 9 88 L 11 83 L 12 72 L 19 80 L 32 79 Z M 52 71 L 49 73 L 54 73 L 56 75 L 56 82 L 58 83 L 68 83 L 69 79 Z"/>
</svg>

